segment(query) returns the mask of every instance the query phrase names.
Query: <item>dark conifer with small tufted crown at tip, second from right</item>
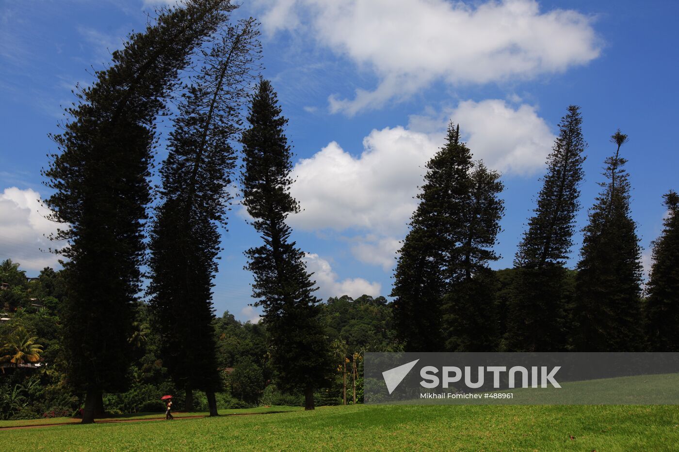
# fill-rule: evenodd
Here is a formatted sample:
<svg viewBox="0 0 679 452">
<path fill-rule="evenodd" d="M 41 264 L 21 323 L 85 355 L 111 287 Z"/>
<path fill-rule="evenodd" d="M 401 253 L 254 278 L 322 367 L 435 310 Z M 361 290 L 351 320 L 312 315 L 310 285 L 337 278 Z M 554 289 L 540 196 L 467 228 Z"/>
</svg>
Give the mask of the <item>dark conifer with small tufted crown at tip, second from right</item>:
<svg viewBox="0 0 679 452">
<path fill-rule="evenodd" d="M 629 213 L 627 159 L 620 156 L 627 135 L 618 130 L 611 141 L 617 149 L 604 162 L 608 181 L 589 211 L 577 267 L 572 345 L 581 352 L 644 350 L 641 248 Z"/>
</svg>

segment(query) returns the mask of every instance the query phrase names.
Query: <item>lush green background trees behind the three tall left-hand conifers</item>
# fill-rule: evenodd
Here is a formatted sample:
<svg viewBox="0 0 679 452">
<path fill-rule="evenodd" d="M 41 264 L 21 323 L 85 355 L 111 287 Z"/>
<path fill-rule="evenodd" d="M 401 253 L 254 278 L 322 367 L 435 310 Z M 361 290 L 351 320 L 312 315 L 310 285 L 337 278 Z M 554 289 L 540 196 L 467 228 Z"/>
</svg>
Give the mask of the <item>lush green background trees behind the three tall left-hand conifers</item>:
<svg viewBox="0 0 679 452">
<path fill-rule="evenodd" d="M 18 263 L 0 263 L 0 419 L 33 419 L 79 413 L 84 394 L 69 379 L 64 350 L 67 281 L 65 270 L 45 268 L 26 278 Z M 175 394 L 182 411 L 207 411 L 204 392 L 178 385 L 166 362 L 164 338 L 153 328 L 153 308 L 136 303 L 127 387 L 103 392 L 107 415 L 164 410 L 160 397 Z M 316 404 L 363 402 L 363 352 L 398 350 L 390 304 L 384 297 L 332 297 L 319 306 L 318 322 L 330 347 L 327 379 L 314 391 Z M 232 314 L 210 320 L 217 373 L 215 402 L 220 409 L 260 405 L 304 406 L 304 387 L 285 381 L 272 362 L 266 322 L 238 322 Z M 204 339 L 201 339 L 204 340 Z M 93 347 L 100 347 L 92 339 Z M 191 341 L 191 347 L 203 343 Z M 396 348 L 394 348 L 396 347 Z M 291 363 L 294 365 L 294 363 Z M 180 382 L 181 383 L 181 382 Z"/>
</svg>

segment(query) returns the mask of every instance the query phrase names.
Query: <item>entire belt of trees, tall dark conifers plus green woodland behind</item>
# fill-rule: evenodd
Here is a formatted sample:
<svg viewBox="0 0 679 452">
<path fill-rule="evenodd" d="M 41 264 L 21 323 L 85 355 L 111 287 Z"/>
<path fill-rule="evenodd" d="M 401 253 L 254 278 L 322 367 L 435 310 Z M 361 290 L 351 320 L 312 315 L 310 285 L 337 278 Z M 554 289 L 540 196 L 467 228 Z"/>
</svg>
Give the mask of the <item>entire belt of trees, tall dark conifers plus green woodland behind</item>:
<svg viewBox="0 0 679 452">
<path fill-rule="evenodd" d="M 426 165 L 390 298 L 316 297 L 304 263 L 312 250 L 291 240 L 287 222 L 304 208 L 290 192 L 289 119 L 259 75 L 257 21 L 234 22 L 236 7 L 192 0 L 159 10 L 76 90 L 43 170 L 63 268 L 26 278 L 20 263 L 0 264 L 1 417 L 82 408 L 89 423 L 162 411 L 164 394 L 210 415 L 361 403 L 363 353 L 373 351 L 679 352 L 679 196 L 664 195 L 644 284 L 620 130 L 587 225 L 576 224 L 587 143 L 574 105 L 513 268 L 491 268 L 504 185 L 462 141 L 461 118 Z M 156 121 L 168 115 L 153 187 Z M 245 251 L 257 324 L 213 307 L 233 181 L 261 238 Z"/>
</svg>

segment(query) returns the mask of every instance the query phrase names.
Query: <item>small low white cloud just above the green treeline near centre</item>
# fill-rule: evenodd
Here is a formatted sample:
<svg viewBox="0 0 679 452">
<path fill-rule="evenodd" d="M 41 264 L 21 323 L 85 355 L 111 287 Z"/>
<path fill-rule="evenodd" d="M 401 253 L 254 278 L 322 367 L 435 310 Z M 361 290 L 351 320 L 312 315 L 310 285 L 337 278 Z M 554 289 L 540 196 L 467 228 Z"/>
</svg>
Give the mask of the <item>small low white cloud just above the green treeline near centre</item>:
<svg viewBox="0 0 679 452">
<path fill-rule="evenodd" d="M 347 278 L 339 281 L 330 263 L 316 254 L 306 253 L 304 261 L 307 271 L 314 274 L 312 278 L 318 285 L 316 296 L 320 299 L 342 295 L 349 295 L 352 298 L 361 297 L 361 295 L 372 297 L 381 295 L 382 285 L 379 282 L 368 282 L 363 278 Z"/>
</svg>

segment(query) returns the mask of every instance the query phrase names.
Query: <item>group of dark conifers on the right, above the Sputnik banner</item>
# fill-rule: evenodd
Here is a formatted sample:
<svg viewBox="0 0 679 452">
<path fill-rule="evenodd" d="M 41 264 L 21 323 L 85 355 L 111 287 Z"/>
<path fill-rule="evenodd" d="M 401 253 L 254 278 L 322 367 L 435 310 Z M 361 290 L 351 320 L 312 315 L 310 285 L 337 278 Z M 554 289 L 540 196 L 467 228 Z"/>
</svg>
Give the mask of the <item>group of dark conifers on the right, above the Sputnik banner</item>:
<svg viewBox="0 0 679 452">
<path fill-rule="evenodd" d="M 499 174 L 473 162 L 449 126 L 430 161 L 420 204 L 400 250 L 394 289 L 397 339 L 405 350 L 453 352 L 679 351 L 678 195 L 653 242 L 646 297 L 631 186 L 611 136 L 600 194 L 589 209 L 575 270 L 566 268 L 587 144 L 579 107 L 568 107 L 513 269 L 490 271 L 503 207 Z"/>
</svg>

